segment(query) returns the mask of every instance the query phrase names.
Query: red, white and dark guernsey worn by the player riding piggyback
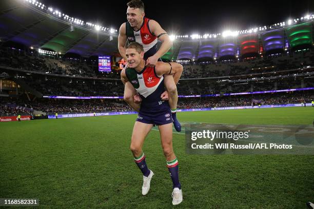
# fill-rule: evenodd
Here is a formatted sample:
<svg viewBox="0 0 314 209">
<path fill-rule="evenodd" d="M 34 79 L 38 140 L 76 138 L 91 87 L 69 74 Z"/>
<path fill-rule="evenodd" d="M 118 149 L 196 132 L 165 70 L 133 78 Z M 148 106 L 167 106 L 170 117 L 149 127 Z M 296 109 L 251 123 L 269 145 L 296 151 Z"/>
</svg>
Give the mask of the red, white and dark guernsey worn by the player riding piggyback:
<svg viewBox="0 0 314 209">
<path fill-rule="evenodd" d="M 157 52 L 158 38 L 155 34 L 152 34 L 149 30 L 149 18 L 144 17 L 141 28 L 137 31 L 131 27 L 129 22 L 126 22 L 126 36 L 128 44 L 136 41 L 144 48 L 144 59 L 154 55 Z"/>
</svg>

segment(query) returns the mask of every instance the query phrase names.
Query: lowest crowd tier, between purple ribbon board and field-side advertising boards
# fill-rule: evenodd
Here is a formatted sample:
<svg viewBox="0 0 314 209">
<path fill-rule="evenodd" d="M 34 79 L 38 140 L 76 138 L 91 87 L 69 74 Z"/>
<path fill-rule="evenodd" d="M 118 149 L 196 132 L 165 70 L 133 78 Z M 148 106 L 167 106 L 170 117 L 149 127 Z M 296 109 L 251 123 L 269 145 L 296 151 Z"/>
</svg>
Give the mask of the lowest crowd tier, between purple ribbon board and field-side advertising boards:
<svg viewBox="0 0 314 209">
<path fill-rule="evenodd" d="M 314 90 L 218 97 L 179 98 L 178 109 L 219 108 L 235 106 L 282 105 L 310 103 Z M 133 111 L 123 99 L 35 99 L 3 98 L 0 116 L 45 114 L 103 113 Z"/>
</svg>

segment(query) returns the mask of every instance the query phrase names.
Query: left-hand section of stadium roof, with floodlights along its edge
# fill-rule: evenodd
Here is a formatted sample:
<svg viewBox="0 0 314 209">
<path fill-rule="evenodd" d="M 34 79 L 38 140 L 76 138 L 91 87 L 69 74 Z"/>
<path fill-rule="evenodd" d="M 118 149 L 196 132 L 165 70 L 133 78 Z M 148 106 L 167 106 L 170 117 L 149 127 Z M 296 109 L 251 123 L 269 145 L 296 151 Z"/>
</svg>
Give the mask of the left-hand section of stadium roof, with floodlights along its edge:
<svg viewBox="0 0 314 209">
<path fill-rule="evenodd" d="M 16 0 L 2 0 L 1 41 L 12 40 L 34 49 L 46 48 L 60 54 L 83 57 L 117 51 L 117 36 L 73 26 Z"/>
</svg>

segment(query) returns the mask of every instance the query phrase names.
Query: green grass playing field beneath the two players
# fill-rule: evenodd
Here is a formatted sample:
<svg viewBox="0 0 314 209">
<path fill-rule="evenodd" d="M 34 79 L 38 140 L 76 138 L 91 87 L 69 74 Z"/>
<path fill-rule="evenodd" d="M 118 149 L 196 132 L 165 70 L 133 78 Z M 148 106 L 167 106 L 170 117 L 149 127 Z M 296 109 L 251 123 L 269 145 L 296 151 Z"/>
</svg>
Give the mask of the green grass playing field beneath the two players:
<svg viewBox="0 0 314 209">
<path fill-rule="evenodd" d="M 151 131 L 144 144 L 155 176 L 148 195 L 141 194 L 142 174 L 129 150 L 135 118 L 1 123 L 0 197 L 39 199 L 35 208 L 174 207 L 158 131 Z M 184 112 L 178 118 L 307 125 L 314 108 Z M 173 146 L 184 195 L 176 208 L 306 208 L 306 201 L 314 201 L 314 156 L 187 155 L 182 134 L 173 134 Z"/>
</svg>

